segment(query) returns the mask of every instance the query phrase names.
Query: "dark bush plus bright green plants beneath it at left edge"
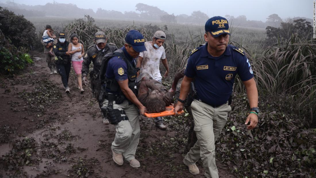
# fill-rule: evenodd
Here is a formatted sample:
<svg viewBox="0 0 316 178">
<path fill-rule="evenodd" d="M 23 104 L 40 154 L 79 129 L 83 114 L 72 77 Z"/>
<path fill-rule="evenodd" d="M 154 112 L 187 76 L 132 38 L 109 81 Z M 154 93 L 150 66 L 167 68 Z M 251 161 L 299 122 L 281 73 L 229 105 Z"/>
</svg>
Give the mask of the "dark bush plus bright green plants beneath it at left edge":
<svg viewBox="0 0 316 178">
<path fill-rule="evenodd" d="M 0 73 L 14 74 L 33 64 L 27 50 L 33 45 L 35 28 L 22 15 L 1 7 L 0 14 L 5 16 L 0 19 Z"/>
</svg>

